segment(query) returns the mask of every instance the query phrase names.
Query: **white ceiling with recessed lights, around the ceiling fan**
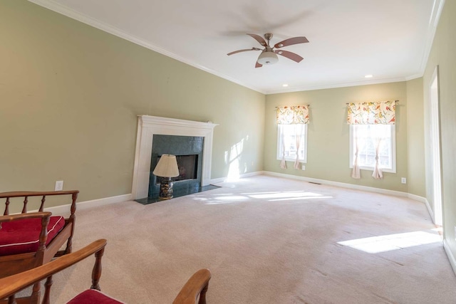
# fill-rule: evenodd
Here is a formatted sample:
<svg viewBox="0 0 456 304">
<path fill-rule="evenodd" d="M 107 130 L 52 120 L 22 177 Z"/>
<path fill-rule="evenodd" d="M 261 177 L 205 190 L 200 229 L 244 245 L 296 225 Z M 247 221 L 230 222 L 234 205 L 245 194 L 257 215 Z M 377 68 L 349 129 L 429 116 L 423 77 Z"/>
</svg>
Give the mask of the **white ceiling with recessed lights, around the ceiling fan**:
<svg viewBox="0 0 456 304">
<path fill-rule="evenodd" d="M 423 75 L 443 0 L 29 0 L 261 93 L 410 80 Z M 273 33 L 279 56 L 254 68 Z M 372 74 L 373 78 L 365 78 Z M 288 84 L 284 88 L 284 84 Z"/>
</svg>

